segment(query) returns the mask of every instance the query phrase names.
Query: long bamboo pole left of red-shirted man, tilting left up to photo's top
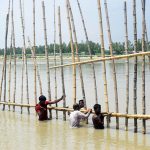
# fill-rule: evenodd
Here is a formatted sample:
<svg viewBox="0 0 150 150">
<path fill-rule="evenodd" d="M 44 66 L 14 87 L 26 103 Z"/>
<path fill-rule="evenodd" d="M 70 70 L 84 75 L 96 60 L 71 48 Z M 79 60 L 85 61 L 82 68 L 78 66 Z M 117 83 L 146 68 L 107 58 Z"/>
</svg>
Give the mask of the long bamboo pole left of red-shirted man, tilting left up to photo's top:
<svg viewBox="0 0 150 150">
<path fill-rule="evenodd" d="M 25 41 L 25 24 L 22 13 L 22 1 L 20 0 L 20 14 L 21 14 L 21 25 L 22 25 L 22 38 L 23 38 L 23 57 L 25 61 L 25 75 L 26 75 L 26 98 L 27 103 L 29 104 L 29 87 L 28 87 L 28 66 L 27 66 L 27 57 L 26 57 L 26 41 Z M 28 114 L 30 114 L 30 109 L 28 108 Z"/>
</svg>

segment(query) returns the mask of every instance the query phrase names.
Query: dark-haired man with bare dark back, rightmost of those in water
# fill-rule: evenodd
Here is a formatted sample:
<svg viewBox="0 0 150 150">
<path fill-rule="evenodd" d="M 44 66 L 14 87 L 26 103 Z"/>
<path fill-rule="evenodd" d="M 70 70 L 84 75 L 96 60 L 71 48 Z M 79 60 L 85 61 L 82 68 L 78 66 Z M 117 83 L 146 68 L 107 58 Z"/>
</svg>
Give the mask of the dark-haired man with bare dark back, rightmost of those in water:
<svg viewBox="0 0 150 150">
<path fill-rule="evenodd" d="M 104 115 L 101 114 L 101 105 L 94 105 L 95 114 L 92 117 L 93 125 L 95 129 L 104 129 Z"/>
</svg>

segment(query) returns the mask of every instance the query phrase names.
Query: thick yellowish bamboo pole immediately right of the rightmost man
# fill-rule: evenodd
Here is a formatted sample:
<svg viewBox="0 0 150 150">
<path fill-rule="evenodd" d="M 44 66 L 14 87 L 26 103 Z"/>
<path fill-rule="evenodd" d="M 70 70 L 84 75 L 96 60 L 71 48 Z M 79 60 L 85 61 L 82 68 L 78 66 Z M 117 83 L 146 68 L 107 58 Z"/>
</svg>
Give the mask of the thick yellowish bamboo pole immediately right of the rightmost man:
<svg viewBox="0 0 150 150">
<path fill-rule="evenodd" d="M 102 22 L 102 11 L 101 11 L 101 1 L 100 0 L 97 0 L 97 5 L 98 5 L 98 16 L 99 16 L 101 55 L 102 55 L 103 58 L 105 58 L 103 22 Z M 105 108 L 106 108 L 106 112 L 109 112 L 108 89 L 107 89 L 107 78 L 106 78 L 106 64 L 105 64 L 105 61 L 103 61 L 103 79 L 104 79 Z M 107 117 L 107 127 L 109 127 L 109 117 Z"/>
</svg>

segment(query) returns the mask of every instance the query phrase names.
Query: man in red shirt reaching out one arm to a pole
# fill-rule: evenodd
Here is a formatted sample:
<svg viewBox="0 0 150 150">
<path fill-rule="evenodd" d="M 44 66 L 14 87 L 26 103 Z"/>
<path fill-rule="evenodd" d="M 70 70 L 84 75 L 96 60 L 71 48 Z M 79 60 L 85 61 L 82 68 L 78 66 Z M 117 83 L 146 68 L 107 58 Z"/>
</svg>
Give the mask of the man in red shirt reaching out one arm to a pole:
<svg viewBox="0 0 150 150">
<path fill-rule="evenodd" d="M 41 95 L 39 97 L 39 103 L 35 106 L 35 110 L 39 116 L 39 120 L 44 121 L 49 119 L 47 116 L 47 105 L 58 103 L 59 101 L 64 99 L 64 96 L 62 96 L 57 100 L 46 100 L 46 97 L 44 95 Z"/>
</svg>

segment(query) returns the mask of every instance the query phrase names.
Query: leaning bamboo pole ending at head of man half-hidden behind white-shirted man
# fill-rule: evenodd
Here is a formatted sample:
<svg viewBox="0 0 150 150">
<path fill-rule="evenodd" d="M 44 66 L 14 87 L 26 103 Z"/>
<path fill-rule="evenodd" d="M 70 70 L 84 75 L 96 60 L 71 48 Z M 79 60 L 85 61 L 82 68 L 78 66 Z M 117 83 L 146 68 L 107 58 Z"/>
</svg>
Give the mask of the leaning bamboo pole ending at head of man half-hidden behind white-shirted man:
<svg viewBox="0 0 150 150">
<path fill-rule="evenodd" d="M 78 52 L 78 42 L 77 42 L 76 29 L 75 29 L 73 13 L 72 13 L 72 10 L 71 10 L 71 5 L 70 5 L 70 1 L 69 0 L 68 0 L 68 9 L 69 9 L 69 13 L 70 13 L 70 20 L 71 20 L 71 23 L 72 23 L 72 30 L 73 30 L 74 40 L 75 40 L 77 61 L 80 62 L 80 57 L 79 57 L 79 52 Z M 86 97 L 85 97 L 85 90 L 84 90 L 83 73 L 82 73 L 81 65 L 78 65 L 78 66 L 79 66 L 79 74 L 80 74 L 82 96 L 83 96 L 83 100 L 84 100 L 84 107 L 86 108 L 87 106 L 86 106 Z"/>
</svg>

